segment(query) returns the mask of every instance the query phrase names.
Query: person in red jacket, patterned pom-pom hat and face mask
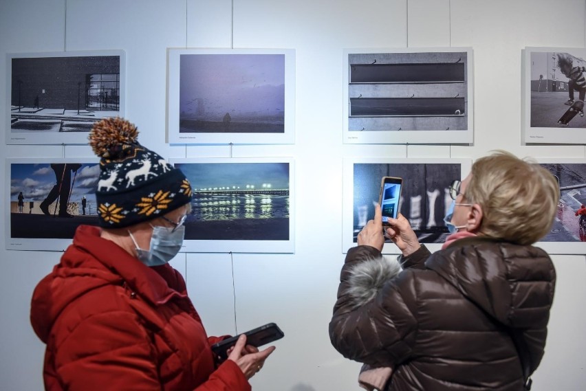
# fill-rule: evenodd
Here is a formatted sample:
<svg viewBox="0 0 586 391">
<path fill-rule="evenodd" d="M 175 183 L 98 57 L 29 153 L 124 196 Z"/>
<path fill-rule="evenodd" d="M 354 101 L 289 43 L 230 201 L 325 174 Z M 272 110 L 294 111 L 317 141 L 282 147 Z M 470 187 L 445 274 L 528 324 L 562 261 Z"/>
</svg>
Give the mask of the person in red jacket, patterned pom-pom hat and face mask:
<svg viewBox="0 0 586 391">
<path fill-rule="evenodd" d="M 126 120 L 98 122 L 100 227 L 80 225 L 34 290 L 31 322 L 47 349 L 47 390 L 250 390 L 274 347 L 239 342 L 224 362 L 169 264 L 180 250 L 191 186 L 136 141 Z"/>
</svg>

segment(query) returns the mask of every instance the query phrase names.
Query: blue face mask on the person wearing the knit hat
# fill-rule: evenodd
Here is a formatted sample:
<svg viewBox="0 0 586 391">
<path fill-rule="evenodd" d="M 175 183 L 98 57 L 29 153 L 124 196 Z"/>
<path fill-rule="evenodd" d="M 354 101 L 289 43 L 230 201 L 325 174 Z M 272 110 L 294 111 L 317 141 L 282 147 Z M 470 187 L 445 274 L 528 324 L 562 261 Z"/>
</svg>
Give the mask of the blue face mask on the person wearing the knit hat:
<svg viewBox="0 0 586 391">
<path fill-rule="evenodd" d="M 161 227 L 160 225 L 153 227 L 151 248 L 149 250 L 138 247 L 131 232 L 128 233 L 136 246 L 136 257 L 146 266 L 160 266 L 172 260 L 181 249 L 185 236 L 185 226 L 177 227 L 174 231 L 173 228 Z"/>
</svg>

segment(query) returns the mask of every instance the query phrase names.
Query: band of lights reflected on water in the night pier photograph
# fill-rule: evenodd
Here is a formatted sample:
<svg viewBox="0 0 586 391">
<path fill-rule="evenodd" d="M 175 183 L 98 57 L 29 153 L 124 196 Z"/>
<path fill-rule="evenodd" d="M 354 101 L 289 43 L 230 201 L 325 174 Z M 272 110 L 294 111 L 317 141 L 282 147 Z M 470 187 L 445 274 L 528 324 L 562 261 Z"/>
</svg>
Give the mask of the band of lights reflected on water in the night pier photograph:
<svg viewBox="0 0 586 391">
<path fill-rule="evenodd" d="M 289 217 L 289 196 L 276 194 L 195 194 L 191 218 L 196 221 Z"/>
</svg>

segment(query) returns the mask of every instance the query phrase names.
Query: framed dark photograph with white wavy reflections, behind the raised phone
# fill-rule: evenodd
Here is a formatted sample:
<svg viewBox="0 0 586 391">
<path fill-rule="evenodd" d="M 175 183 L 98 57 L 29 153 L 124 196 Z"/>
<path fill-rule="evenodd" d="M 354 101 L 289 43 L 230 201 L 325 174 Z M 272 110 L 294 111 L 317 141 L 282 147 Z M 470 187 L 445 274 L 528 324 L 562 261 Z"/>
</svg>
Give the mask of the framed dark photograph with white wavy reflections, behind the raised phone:
<svg viewBox="0 0 586 391">
<path fill-rule="evenodd" d="M 449 235 L 444 223 L 452 203 L 449 188 L 470 172 L 467 159 L 347 158 L 343 168 L 343 252 L 356 246 L 358 233 L 374 218 L 382 177 L 402 179 L 398 212 L 409 220 L 420 243 L 439 249 Z M 386 239 L 383 253 L 400 254 Z"/>
</svg>

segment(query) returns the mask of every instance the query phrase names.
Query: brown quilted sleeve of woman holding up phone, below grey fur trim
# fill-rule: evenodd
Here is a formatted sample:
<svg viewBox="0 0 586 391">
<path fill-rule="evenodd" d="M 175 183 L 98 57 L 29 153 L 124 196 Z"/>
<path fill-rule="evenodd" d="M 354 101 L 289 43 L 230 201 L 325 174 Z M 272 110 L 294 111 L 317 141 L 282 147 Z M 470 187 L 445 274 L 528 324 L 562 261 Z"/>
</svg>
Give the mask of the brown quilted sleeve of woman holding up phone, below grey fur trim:
<svg viewBox="0 0 586 391">
<path fill-rule="evenodd" d="M 347 293 L 349 272 L 360 262 L 380 256 L 377 249 L 349 250 L 340 276 L 338 300 L 329 323 L 332 345 L 344 357 L 371 366 L 393 366 L 409 358 L 417 331 L 413 273 L 393 278 L 365 305 L 354 306 Z"/>
</svg>

